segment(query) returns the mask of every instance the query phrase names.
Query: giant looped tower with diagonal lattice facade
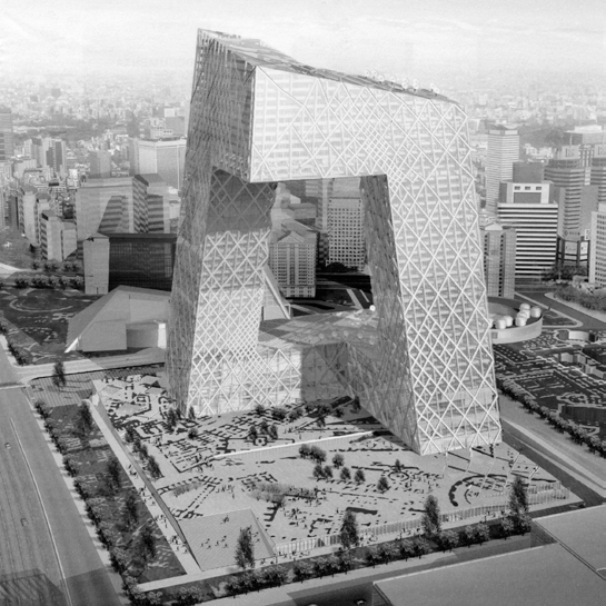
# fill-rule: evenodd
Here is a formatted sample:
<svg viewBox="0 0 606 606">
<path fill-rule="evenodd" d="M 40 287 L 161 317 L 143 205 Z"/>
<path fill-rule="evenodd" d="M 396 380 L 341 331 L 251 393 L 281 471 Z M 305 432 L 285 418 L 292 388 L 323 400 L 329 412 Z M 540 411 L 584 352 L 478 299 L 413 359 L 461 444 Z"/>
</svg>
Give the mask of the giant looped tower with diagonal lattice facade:
<svg viewBox="0 0 606 606">
<path fill-rule="evenodd" d="M 180 406 L 280 404 L 332 381 L 421 454 L 498 441 L 461 108 L 200 31 L 190 116 L 167 356 Z M 259 331 L 274 183 L 352 176 L 374 336 L 277 345 Z"/>
</svg>

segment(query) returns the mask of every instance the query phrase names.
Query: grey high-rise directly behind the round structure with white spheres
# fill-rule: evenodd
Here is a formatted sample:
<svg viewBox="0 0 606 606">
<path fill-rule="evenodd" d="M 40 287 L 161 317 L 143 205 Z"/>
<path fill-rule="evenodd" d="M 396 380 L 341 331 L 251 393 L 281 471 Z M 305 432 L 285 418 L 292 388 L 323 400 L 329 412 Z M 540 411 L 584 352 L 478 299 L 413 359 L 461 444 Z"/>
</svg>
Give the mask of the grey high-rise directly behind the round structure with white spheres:
<svg viewBox="0 0 606 606">
<path fill-rule="evenodd" d="M 494 220 L 480 227 L 484 276 L 489 297 L 513 298 L 516 289 L 516 230 Z"/>
</svg>

